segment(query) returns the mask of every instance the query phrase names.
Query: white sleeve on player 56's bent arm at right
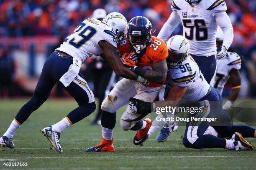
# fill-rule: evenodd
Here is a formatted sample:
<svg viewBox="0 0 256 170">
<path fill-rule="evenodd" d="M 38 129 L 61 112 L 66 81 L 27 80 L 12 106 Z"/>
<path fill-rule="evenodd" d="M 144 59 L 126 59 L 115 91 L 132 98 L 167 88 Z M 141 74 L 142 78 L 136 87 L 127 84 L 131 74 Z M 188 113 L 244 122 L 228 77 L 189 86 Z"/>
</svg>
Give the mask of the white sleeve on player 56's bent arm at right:
<svg viewBox="0 0 256 170">
<path fill-rule="evenodd" d="M 226 12 L 221 13 L 215 13 L 214 18 L 217 22 L 217 24 L 220 26 L 220 29 L 224 33 L 224 40 L 222 45 L 228 48 L 232 44 L 234 33 L 233 33 L 233 27 L 230 21 L 230 18 L 228 17 L 228 14 Z"/>
</svg>

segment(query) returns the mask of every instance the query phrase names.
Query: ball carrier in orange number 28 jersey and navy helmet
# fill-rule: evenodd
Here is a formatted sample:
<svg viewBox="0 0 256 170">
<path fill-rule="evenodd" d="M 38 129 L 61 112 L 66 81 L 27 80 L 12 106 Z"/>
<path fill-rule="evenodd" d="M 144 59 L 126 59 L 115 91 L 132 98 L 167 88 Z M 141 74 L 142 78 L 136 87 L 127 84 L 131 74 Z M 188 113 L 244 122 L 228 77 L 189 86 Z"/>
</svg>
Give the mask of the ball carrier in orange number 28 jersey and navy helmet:
<svg viewBox="0 0 256 170">
<path fill-rule="evenodd" d="M 134 17 L 128 23 L 127 36 L 118 45 L 119 53 L 123 55 L 121 61 L 148 82 L 142 84 L 123 78 L 115 85 L 101 105 L 102 141 L 86 151 L 115 151 L 113 128 L 116 111 L 127 104 L 120 120 L 121 127 L 125 131 L 137 131 L 133 139 L 135 145 L 140 145 L 146 139 L 152 121 L 149 118 L 141 119 L 144 115 L 136 114 L 136 107 L 132 102 L 129 103 L 129 98 L 152 102 L 161 89 L 164 91 L 168 48 L 163 40 L 151 36 L 151 29 L 150 21 L 143 16 Z"/>
</svg>

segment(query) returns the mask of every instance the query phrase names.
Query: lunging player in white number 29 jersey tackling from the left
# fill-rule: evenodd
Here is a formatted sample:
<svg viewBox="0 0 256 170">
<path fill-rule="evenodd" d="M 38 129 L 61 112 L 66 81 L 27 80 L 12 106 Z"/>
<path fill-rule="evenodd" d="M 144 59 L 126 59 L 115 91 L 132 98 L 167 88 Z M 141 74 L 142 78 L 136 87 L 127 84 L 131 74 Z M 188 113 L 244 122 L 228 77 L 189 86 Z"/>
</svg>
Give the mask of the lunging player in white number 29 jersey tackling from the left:
<svg viewBox="0 0 256 170">
<path fill-rule="evenodd" d="M 63 44 L 47 58 L 33 97 L 21 107 L 8 130 L 0 138 L 0 145 L 14 148 L 12 139 L 15 132 L 31 113 L 47 100 L 51 89 L 60 81 L 65 90 L 77 101 L 78 107 L 61 121 L 44 128 L 42 133 L 58 152 L 63 152 L 59 143 L 60 133 L 90 115 L 96 108 L 94 95 L 79 73 L 82 62 L 92 55 L 102 55 L 115 74 L 145 82 L 145 79 L 120 63 L 117 44 L 123 37 L 126 26 L 127 21 L 120 13 L 108 14 L 103 22 L 88 18 L 80 23 L 74 32 L 66 37 Z"/>
</svg>

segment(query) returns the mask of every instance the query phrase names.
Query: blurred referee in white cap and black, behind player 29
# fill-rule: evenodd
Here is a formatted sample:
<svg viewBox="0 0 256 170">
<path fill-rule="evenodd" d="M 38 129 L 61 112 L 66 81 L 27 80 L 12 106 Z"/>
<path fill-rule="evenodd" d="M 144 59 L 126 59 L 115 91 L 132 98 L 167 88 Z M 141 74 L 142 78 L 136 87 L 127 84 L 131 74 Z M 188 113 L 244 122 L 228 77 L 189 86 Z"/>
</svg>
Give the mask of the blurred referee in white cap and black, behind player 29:
<svg viewBox="0 0 256 170">
<path fill-rule="evenodd" d="M 102 21 L 107 15 L 104 9 L 98 8 L 93 11 L 92 18 Z M 106 60 L 100 56 L 92 55 L 92 62 L 88 65 L 92 73 L 92 81 L 94 85 L 95 97 L 99 99 L 97 105 L 97 115 L 91 125 L 101 125 L 101 103 L 110 93 L 112 86 L 115 83 L 115 72 Z"/>
</svg>

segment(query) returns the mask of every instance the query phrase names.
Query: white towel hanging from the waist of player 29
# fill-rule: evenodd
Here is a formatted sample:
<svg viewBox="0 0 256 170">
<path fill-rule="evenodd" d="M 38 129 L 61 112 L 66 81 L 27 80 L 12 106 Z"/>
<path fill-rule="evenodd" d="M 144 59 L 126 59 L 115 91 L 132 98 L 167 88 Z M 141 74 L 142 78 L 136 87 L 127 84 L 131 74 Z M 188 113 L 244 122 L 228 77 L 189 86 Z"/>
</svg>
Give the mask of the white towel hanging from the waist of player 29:
<svg viewBox="0 0 256 170">
<path fill-rule="evenodd" d="M 69 70 L 62 75 L 59 79 L 62 84 L 67 87 L 74 80 L 74 78 L 78 75 L 82 62 L 77 58 L 73 58 L 73 64 L 70 65 Z"/>
</svg>

